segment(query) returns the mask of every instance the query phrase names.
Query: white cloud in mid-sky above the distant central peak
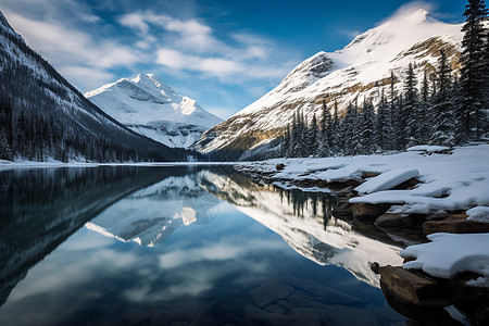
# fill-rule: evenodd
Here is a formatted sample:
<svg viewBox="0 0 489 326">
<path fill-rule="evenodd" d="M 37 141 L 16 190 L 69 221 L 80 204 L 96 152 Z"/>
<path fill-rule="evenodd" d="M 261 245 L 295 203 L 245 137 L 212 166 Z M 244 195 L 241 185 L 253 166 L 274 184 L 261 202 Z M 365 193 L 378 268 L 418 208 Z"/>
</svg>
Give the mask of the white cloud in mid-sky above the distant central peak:
<svg viewBox="0 0 489 326">
<path fill-rule="evenodd" d="M 137 47 L 154 47 L 155 63 L 176 73 L 192 72 L 229 84 L 242 84 L 280 78 L 292 67 L 269 39 L 231 33 L 224 41 L 215 36 L 212 27 L 195 18 L 184 21 L 152 12 L 136 12 L 122 16 L 120 23 L 140 34 L 142 40 Z"/>
</svg>

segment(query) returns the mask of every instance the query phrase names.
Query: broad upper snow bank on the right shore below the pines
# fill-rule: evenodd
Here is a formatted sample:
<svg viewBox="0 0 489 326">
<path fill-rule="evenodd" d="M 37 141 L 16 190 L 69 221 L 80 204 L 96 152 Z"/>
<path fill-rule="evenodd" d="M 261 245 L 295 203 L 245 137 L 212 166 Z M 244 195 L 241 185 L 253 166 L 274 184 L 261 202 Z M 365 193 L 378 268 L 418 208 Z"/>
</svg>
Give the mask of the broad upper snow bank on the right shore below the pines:
<svg viewBox="0 0 489 326">
<path fill-rule="evenodd" d="M 363 173 L 378 173 L 356 190 L 364 196 L 350 199 L 352 203 L 391 203 L 397 213 L 427 214 L 438 211 L 468 210 L 489 206 L 489 145 L 454 148 L 452 154 L 419 155 L 408 151 L 386 155 L 359 155 L 322 159 L 274 159 L 241 163 L 241 170 L 258 173 L 283 171 L 272 180 L 317 179 L 340 181 L 360 178 Z M 385 190 L 399 177 L 414 175 L 421 181 L 412 190 Z M 412 173 L 412 174 L 411 174 Z M 393 212 L 393 211 L 392 211 Z"/>
</svg>

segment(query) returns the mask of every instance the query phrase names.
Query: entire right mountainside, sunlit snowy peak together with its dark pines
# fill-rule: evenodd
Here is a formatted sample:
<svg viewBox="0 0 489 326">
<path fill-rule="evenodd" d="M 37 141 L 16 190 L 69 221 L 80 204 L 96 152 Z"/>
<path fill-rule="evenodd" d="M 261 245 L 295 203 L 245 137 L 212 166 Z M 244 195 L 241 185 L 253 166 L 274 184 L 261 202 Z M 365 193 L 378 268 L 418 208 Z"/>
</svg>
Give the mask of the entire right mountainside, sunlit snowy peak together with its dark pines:
<svg viewBox="0 0 489 326">
<path fill-rule="evenodd" d="M 463 78 L 459 83 L 468 43 L 462 27 L 424 10 L 385 22 L 341 50 L 299 64 L 275 89 L 208 130 L 197 148 L 214 158 L 256 160 L 450 145 L 474 136 L 476 124 L 480 136 L 485 113 L 462 103 L 471 89 Z M 327 143 L 321 143 L 324 137 Z"/>
</svg>

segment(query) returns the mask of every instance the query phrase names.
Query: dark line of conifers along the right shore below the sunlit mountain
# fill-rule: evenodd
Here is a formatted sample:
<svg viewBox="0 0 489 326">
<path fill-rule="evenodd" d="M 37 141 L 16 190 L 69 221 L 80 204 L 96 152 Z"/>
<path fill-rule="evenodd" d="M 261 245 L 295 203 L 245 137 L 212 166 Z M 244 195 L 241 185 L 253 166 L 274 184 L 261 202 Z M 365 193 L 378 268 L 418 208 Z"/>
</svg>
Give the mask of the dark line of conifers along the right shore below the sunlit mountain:
<svg viewBox="0 0 489 326">
<path fill-rule="evenodd" d="M 415 145 L 452 147 L 479 140 L 489 129 L 489 32 L 484 25 L 484 0 L 468 1 L 464 15 L 460 78 L 440 50 L 435 72 L 428 74 L 425 66 L 423 80 L 416 79 L 414 63 L 408 66 L 400 93 L 392 72 L 390 87 L 380 89 L 376 108 L 372 99 L 361 105 L 350 103 L 340 118 L 337 102 L 328 108 L 323 100 L 319 123 L 316 114 L 308 121 L 298 110 L 277 154 L 373 154 Z"/>
</svg>

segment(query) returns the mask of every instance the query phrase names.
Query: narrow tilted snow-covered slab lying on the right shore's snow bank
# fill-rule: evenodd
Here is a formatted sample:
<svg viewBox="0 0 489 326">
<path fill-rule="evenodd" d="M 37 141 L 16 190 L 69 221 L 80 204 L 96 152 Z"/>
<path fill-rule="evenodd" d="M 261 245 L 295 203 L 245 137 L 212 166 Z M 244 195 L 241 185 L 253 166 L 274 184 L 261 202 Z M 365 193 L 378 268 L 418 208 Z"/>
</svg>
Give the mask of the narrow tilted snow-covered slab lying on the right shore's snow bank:
<svg viewBox="0 0 489 326">
<path fill-rule="evenodd" d="M 419 171 L 417 168 L 414 170 L 391 170 L 389 172 L 383 173 L 376 177 L 373 177 L 354 190 L 359 193 L 372 193 L 380 190 L 387 190 L 392 187 L 396 187 L 409 179 L 417 176 Z"/>
</svg>

